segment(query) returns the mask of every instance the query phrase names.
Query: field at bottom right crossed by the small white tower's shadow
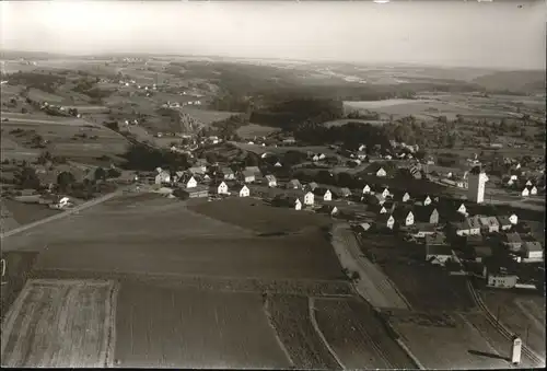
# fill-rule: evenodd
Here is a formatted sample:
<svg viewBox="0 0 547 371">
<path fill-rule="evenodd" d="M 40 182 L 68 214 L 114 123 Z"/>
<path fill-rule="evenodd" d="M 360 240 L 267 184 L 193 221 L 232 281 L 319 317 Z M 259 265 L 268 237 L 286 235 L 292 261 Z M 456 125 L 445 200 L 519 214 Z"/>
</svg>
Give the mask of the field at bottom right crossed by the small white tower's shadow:
<svg viewBox="0 0 547 371">
<path fill-rule="evenodd" d="M 391 323 L 400 335 L 403 343 L 424 368 L 478 370 L 510 367 L 504 359 L 507 355 L 498 353 L 485 337 L 461 315 L 453 313 L 435 316 L 422 315 L 421 317 L 393 318 Z"/>
</svg>

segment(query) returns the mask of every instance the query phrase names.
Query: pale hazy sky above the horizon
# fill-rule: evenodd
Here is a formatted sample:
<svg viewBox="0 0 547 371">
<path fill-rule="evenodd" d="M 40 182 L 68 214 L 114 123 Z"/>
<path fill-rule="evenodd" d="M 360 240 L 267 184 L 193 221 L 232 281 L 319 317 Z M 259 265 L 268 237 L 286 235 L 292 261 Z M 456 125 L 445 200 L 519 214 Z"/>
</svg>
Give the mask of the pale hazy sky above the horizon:
<svg viewBox="0 0 547 371">
<path fill-rule="evenodd" d="M 546 1 L 2 1 L 0 46 L 545 69 Z"/>
</svg>

